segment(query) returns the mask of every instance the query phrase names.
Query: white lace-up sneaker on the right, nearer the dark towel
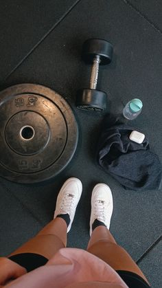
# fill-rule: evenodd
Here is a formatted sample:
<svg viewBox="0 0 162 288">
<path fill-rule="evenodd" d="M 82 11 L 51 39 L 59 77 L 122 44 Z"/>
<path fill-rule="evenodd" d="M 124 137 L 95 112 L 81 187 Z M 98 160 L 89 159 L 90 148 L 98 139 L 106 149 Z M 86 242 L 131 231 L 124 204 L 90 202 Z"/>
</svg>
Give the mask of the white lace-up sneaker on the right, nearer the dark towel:
<svg viewBox="0 0 162 288">
<path fill-rule="evenodd" d="M 109 230 L 112 214 L 113 196 L 111 189 L 106 184 L 97 184 L 93 188 L 91 196 L 90 236 L 92 234 L 92 225 L 95 219 L 104 223 Z"/>
</svg>

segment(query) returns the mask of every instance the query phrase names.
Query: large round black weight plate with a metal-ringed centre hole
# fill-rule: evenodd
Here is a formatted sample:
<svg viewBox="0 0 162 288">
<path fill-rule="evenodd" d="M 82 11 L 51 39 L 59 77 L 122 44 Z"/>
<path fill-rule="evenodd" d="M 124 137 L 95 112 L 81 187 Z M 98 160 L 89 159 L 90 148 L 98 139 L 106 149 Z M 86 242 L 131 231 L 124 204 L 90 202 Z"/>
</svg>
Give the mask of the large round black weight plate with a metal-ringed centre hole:
<svg viewBox="0 0 162 288">
<path fill-rule="evenodd" d="M 71 161 L 78 125 L 69 104 L 42 85 L 0 92 L 0 175 L 19 183 L 54 177 Z"/>
</svg>

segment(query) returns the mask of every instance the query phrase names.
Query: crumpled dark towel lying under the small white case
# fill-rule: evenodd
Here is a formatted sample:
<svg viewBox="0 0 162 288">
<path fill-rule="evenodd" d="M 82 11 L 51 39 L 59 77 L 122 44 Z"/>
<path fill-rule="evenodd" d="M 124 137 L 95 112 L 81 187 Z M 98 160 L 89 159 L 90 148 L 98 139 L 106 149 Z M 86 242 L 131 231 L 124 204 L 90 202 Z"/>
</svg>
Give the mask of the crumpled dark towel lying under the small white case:
<svg viewBox="0 0 162 288">
<path fill-rule="evenodd" d="M 106 118 L 97 147 L 97 162 L 126 189 L 158 190 L 162 175 L 159 157 L 150 151 L 146 137 L 142 144 L 129 139 L 134 130 L 142 132 L 113 116 Z"/>
</svg>

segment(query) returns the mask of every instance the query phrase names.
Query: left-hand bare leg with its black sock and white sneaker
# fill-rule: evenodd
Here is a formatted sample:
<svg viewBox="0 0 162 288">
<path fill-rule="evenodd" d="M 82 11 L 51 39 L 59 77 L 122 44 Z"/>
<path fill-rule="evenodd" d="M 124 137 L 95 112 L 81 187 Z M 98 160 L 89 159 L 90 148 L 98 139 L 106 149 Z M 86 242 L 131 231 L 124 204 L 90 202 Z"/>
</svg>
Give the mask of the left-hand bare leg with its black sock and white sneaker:
<svg viewBox="0 0 162 288">
<path fill-rule="evenodd" d="M 67 179 L 58 194 L 54 220 L 47 224 L 34 238 L 10 254 L 10 256 L 34 253 L 49 259 L 60 248 L 65 247 L 67 245 L 67 232 L 71 229 L 81 194 L 81 181 L 77 178 Z"/>
</svg>

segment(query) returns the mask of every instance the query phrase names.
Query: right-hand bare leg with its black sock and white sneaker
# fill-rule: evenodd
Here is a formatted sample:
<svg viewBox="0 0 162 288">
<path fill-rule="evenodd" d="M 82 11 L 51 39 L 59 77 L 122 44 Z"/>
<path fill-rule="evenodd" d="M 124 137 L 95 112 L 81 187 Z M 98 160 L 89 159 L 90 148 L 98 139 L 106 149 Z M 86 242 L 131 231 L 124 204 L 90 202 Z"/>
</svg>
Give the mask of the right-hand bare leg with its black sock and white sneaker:
<svg viewBox="0 0 162 288">
<path fill-rule="evenodd" d="M 133 272 L 148 283 L 141 269 L 139 269 L 126 250 L 117 245 L 109 231 L 113 212 L 113 197 L 108 186 L 105 184 L 95 186 L 92 193 L 91 206 L 91 239 L 87 251 L 101 258 L 113 269 Z"/>
</svg>

